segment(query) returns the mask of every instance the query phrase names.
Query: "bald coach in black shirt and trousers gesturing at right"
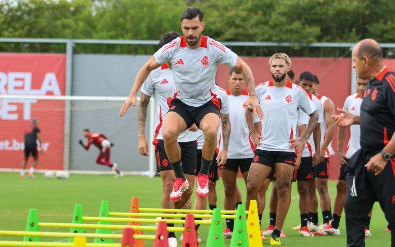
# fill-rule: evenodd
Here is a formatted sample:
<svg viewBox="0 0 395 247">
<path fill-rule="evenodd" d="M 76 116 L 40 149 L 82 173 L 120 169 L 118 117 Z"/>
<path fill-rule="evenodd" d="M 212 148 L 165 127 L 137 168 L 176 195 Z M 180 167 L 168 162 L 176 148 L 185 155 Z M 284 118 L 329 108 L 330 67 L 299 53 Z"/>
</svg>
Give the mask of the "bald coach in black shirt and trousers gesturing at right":
<svg viewBox="0 0 395 247">
<path fill-rule="evenodd" d="M 342 127 L 360 124 L 359 149 L 346 165 L 347 246 L 365 246 L 364 223 L 375 201 L 380 203 L 395 247 L 395 73 L 383 62 L 380 45 L 370 39 L 353 49 L 358 78 L 369 80 L 360 116 L 338 109 L 332 116 Z"/>
</svg>

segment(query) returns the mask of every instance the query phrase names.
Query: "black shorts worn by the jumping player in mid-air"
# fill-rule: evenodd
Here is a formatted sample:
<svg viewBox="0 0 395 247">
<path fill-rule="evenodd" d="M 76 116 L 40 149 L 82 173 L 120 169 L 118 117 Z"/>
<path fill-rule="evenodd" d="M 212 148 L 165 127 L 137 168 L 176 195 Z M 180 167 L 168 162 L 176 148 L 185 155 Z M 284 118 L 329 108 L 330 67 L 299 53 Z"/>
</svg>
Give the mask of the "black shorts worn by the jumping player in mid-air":
<svg viewBox="0 0 395 247">
<path fill-rule="evenodd" d="M 187 129 L 192 124 L 196 124 L 199 127 L 200 121 L 209 113 L 217 114 L 219 117 L 220 109 L 221 99 L 217 97 L 201 106 L 189 106 L 179 99 L 172 99 L 169 105 L 169 112 L 175 112 L 180 115 L 185 124 L 187 124 Z"/>
</svg>

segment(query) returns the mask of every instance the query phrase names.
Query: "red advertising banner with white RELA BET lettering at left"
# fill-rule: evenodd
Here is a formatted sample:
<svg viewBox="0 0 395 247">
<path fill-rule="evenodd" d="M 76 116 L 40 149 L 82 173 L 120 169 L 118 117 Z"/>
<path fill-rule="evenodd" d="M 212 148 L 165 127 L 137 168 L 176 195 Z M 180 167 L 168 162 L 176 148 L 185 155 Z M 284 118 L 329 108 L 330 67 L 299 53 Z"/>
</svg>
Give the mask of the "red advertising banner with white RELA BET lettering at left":
<svg viewBox="0 0 395 247">
<path fill-rule="evenodd" d="M 64 95 L 66 55 L 0 53 L 0 94 Z M 21 168 L 25 131 L 38 120 L 38 169 L 63 169 L 63 101 L 0 99 L 0 168 Z M 27 167 L 33 162 L 29 158 Z"/>
</svg>

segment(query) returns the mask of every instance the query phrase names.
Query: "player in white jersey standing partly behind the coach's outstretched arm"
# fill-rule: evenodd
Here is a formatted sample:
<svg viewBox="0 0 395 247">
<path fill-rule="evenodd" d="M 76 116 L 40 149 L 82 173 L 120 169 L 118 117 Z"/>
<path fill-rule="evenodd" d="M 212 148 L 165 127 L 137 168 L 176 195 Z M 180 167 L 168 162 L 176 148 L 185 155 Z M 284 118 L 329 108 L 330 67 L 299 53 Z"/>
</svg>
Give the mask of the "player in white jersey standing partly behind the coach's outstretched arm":
<svg viewBox="0 0 395 247">
<path fill-rule="evenodd" d="M 344 102 L 343 110 L 349 111 L 354 115 L 360 115 L 360 108 L 363 99 L 363 95 L 365 94 L 366 84 L 369 80 L 362 80 L 356 78 L 356 89 L 357 93 L 352 94 L 346 98 Z M 336 198 L 335 203 L 333 205 L 333 215 L 332 222 L 330 225 L 324 227 L 322 231 L 319 231 L 322 235 L 340 235 L 339 224 L 340 217 L 342 216 L 344 200 L 346 198 L 347 191 L 347 183 L 346 183 L 346 172 L 344 168 L 346 167 L 347 161 L 358 151 L 361 146 L 359 144 L 359 136 L 360 136 L 360 126 L 357 124 L 350 126 L 350 139 L 347 144 L 346 152 L 343 151 L 343 143 L 346 138 L 347 127 L 339 126 L 337 133 L 337 154 L 339 157 L 340 164 L 340 174 L 339 181 L 336 185 Z M 372 210 L 370 210 L 369 215 L 366 218 L 365 225 L 365 237 L 370 237 L 369 225 L 370 218 L 372 215 Z"/>
</svg>

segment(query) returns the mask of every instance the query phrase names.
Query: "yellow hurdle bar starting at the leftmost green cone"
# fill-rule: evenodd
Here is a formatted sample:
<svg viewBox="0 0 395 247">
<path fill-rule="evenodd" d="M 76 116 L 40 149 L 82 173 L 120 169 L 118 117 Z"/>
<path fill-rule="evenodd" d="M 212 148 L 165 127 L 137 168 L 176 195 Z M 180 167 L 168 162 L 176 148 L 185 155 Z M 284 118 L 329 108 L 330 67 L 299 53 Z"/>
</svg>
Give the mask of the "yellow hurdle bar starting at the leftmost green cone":
<svg viewBox="0 0 395 247">
<path fill-rule="evenodd" d="M 49 223 L 39 222 L 39 227 L 54 227 L 54 228 L 89 228 L 89 229 L 118 229 L 133 228 L 141 231 L 156 231 L 157 226 L 128 226 L 128 225 L 96 225 L 96 224 L 73 224 L 73 223 Z M 184 232 L 183 227 L 167 227 L 169 232 Z"/>
</svg>

